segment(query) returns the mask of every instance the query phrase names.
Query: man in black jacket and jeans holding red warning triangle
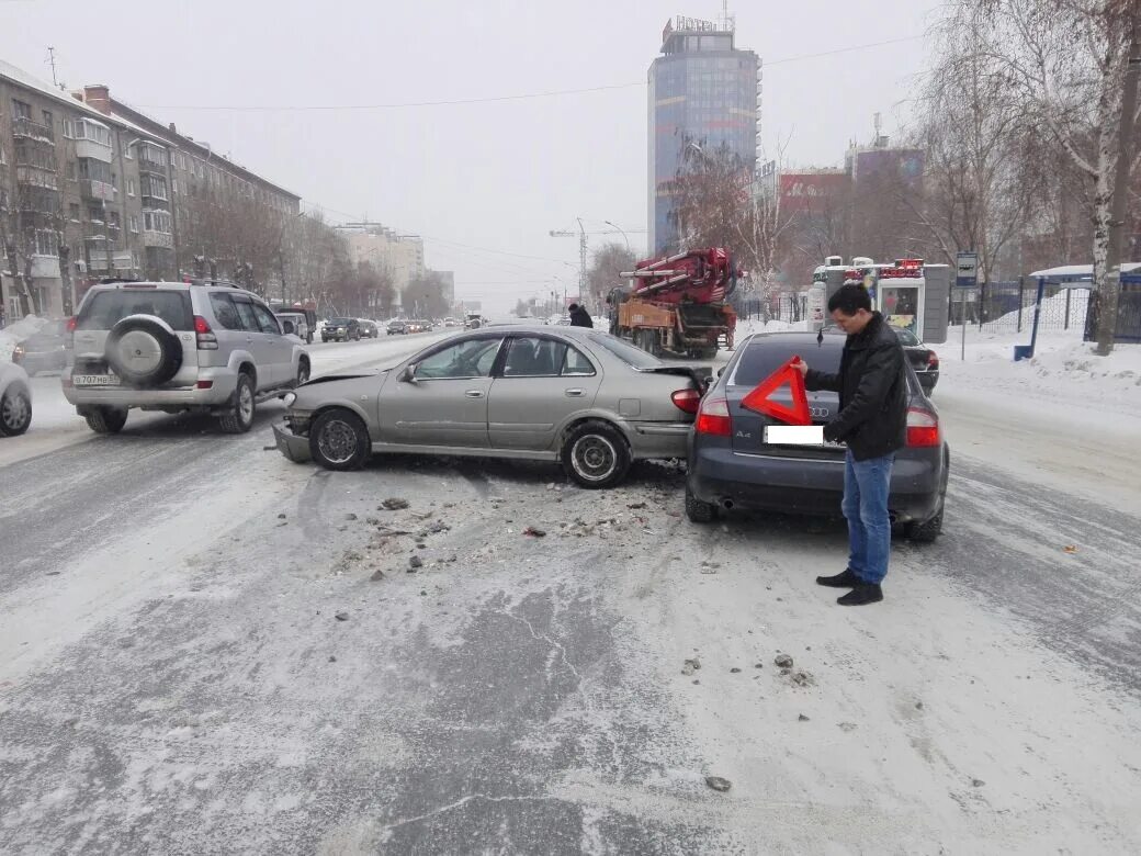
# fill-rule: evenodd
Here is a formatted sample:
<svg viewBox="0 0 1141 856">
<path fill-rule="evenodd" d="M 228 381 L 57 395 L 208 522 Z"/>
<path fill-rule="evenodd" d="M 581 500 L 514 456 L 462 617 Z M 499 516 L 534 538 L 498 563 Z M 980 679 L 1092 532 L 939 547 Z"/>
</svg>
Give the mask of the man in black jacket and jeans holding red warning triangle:
<svg viewBox="0 0 1141 856">
<path fill-rule="evenodd" d="M 840 412 L 824 426 L 824 438 L 848 445 L 844 498 L 851 548 L 848 567 L 834 576 L 817 576 L 820 586 L 848 588 L 842 606 L 883 600 L 880 583 L 888 573 L 891 520 L 888 492 L 896 452 L 907 439 L 907 363 L 899 337 L 877 312 L 863 285 L 844 285 L 828 300 L 836 325 L 848 333 L 840 372 L 798 369 L 808 389 L 840 394 Z"/>
</svg>

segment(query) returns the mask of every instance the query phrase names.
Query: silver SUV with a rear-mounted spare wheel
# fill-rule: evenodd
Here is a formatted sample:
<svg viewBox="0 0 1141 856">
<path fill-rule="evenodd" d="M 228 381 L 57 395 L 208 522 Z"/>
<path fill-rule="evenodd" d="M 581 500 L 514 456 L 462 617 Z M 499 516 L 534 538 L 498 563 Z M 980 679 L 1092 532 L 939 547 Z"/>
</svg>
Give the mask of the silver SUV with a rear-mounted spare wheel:
<svg viewBox="0 0 1141 856">
<path fill-rule="evenodd" d="M 259 401 L 309 379 L 301 342 L 261 298 L 232 285 L 95 285 L 68 329 L 64 395 L 98 434 L 121 430 L 131 407 L 207 412 L 241 434 Z"/>
</svg>

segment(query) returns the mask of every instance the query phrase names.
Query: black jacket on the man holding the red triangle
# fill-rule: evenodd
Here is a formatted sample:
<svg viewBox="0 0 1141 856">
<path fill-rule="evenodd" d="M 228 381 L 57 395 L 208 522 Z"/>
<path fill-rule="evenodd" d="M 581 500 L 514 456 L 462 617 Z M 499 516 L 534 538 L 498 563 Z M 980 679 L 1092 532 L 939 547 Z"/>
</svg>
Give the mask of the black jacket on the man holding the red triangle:
<svg viewBox="0 0 1141 856">
<path fill-rule="evenodd" d="M 842 441 L 852 458 L 882 458 L 907 442 L 907 360 L 899 337 L 880 313 L 844 342 L 840 372 L 809 369 L 808 389 L 840 394 L 840 412 L 824 426 L 824 437 Z"/>
</svg>

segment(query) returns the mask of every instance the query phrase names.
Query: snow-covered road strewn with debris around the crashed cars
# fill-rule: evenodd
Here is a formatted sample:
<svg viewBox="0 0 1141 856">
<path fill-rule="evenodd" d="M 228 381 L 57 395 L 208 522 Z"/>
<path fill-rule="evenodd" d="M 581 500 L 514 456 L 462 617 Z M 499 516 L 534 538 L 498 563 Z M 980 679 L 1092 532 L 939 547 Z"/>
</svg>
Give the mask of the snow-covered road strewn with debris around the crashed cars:
<svg viewBox="0 0 1141 856">
<path fill-rule="evenodd" d="M 856 611 L 811 582 L 840 525 L 691 525 L 670 466 L 605 493 L 545 465 L 331 474 L 265 450 L 276 405 L 244 437 L 132 415 L 17 454 L 2 849 L 1136 853 L 1133 423 L 1043 404 L 1028 430 L 969 387 L 937 393 L 945 536 L 898 543 Z"/>
</svg>

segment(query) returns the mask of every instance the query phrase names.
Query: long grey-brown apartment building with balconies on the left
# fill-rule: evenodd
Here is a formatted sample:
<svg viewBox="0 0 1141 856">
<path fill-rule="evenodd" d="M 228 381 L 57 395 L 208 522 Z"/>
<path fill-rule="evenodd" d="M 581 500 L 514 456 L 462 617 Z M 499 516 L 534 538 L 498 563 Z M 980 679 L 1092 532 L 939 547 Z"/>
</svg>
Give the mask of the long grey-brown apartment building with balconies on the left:
<svg viewBox="0 0 1141 856">
<path fill-rule="evenodd" d="M 252 276 L 273 288 L 285 266 L 251 248 L 290 234 L 300 201 L 106 86 L 65 92 L 0 60 L 0 307 L 9 321 L 71 314 L 105 278 L 234 275 L 253 263 Z"/>
</svg>

